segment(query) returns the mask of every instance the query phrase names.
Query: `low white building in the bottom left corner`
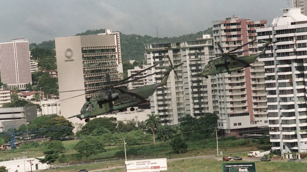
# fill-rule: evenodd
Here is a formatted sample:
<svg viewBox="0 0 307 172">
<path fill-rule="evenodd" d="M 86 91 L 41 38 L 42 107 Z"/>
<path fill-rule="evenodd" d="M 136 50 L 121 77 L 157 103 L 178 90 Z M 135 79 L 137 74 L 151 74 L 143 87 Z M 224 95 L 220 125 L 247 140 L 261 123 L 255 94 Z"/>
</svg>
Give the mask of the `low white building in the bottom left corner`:
<svg viewBox="0 0 307 172">
<path fill-rule="evenodd" d="M 44 157 L 39 157 L 44 158 Z M 16 159 L 11 161 L 3 161 L 0 162 L 0 166 L 5 166 L 9 172 L 25 172 L 25 171 L 32 171 L 35 170 L 47 170 L 48 164 L 42 164 L 35 158 L 24 158 L 24 159 Z"/>
</svg>

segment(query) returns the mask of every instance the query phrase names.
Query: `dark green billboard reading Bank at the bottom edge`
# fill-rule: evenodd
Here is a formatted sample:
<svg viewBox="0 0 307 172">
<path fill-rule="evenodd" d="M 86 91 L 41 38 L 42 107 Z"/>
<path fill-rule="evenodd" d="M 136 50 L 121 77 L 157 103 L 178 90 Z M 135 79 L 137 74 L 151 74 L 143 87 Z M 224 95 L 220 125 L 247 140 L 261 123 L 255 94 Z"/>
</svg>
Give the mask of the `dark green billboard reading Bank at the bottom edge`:
<svg viewBox="0 0 307 172">
<path fill-rule="evenodd" d="M 255 162 L 252 162 L 252 163 L 223 163 L 222 169 L 223 169 L 222 172 L 240 172 L 240 171 L 255 172 L 256 164 Z"/>
</svg>

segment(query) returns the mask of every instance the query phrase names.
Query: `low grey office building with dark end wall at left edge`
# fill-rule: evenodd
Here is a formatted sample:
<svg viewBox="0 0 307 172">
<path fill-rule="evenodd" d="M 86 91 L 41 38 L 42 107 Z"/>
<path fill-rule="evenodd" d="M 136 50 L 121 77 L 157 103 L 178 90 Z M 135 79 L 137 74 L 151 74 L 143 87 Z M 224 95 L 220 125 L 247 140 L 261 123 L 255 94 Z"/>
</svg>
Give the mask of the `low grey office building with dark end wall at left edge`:
<svg viewBox="0 0 307 172">
<path fill-rule="evenodd" d="M 36 106 L 0 108 L 0 133 L 7 131 L 12 126 L 18 129 L 26 122 L 37 118 Z"/>
</svg>

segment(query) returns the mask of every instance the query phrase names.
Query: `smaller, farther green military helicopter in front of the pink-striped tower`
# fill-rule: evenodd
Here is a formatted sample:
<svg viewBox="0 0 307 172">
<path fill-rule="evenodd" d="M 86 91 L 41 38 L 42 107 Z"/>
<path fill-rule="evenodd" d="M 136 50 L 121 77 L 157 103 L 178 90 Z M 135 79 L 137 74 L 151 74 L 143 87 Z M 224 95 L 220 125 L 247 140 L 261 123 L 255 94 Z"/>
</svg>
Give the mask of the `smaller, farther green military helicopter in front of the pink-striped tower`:
<svg viewBox="0 0 307 172">
<path fill-rule="evenodd" d="M 265 43 L 265 46 L 263 50 L 261 51 L 261 53 L 251 54 L 251 55 L 242 56 L 242 57 L 237 57 L 237 55 L 235 55 L 240 52 L 249 51 L 249 50 L 243 50 L 243 51 L 234 52 L 254 41 L 256 40 L 252 40 L 251 42 L 245 43 L 242 46 L 239 46 L 227 53 L 224 53 L 220 44 L 217 43 L 220 51 L 222 52 L 222 54 L 219 55 L 221 57 L 209 61 L 208 64 L 202 70 L 202 72 L 197 73 L 195 75 L 202 75 L 203 77 L 208 78 L 208 75 L 214 75 L 218 73 L 225 73 L 225 72 L 232 72 L 232 71 L 238 71 L 238 73 L 240 73 L 241 69 L 250 67 L 251 66 L 250 64 L 254 63 L 259 56 L 262 56 L 263 54 L 265 54 L 267 47 L 271 43 L 276 43 L 276 42 L 269 42 L 269 41 L 262 40 L 262 42 Z M 258 48 L 255 48 L 255 49 L 258 49 Z M 251 50 L 255 50 L 255 49 L 251 49 Z M 234 53 L 231 53 L 231 52 L 234 52 Z"/>
</svg>

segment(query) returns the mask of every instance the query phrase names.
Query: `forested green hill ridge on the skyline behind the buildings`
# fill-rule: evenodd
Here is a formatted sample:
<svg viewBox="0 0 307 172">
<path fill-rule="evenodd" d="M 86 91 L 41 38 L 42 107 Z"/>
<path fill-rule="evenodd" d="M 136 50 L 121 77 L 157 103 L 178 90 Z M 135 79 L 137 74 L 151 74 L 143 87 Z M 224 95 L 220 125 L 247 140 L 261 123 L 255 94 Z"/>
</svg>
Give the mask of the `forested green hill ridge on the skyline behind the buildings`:
<svg viewBox="0 0 307 172">
<path fill-rule="evenodd" d="M 116 31 L 117 32 L 117 31 Z M 97 34 L 97 33 L 105 33 L 105 29 L 99 29 L 99 30 L 87 30 L 83 33 L 78 33 L 78 35 L 90 35 L 90 34 Z M 143 61 L 144 59 L 144 44 L 149 43 L 163 43 L 163 42 L 185 42 L 185 41 L 191 41 L 195 40 L 196 38 L 201 38 L 203 34 L 211 34 L 212 35 L 212 28 L 208 28 L 205 31 L 200 31 L 197 33 L 191 33 L 188 35 L 183 35 L 179 37 L 164 37 L 164 38 L 157 38 L 152 36 L 140 36 L 136 34 L 122 34 L 120 33 L 120 44 L 121 44 L 121 50 L 122 50 L 122 59 L 124 61 L 126 60 L 138 60 Z M 55 49 L 55 43 L 53 41 L 44 41 L 40 44 L 32 43 L 30 44 L 30 49 L 33 47 L 41 47 L 45 49 Z"/>
</svg>

